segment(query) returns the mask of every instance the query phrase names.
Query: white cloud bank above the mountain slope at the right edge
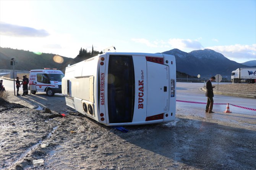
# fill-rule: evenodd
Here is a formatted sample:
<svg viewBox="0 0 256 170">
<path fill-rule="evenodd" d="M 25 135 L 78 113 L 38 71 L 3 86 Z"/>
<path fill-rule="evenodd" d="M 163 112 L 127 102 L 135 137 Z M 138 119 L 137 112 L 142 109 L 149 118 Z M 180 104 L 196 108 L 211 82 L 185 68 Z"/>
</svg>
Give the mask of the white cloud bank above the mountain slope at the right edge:
<svg viewBox="0 0 256 170">
<path fill-rule="evenodd" d="M 212 46 L 207 48 L 220 52 L 225 57 L 231 60 L 246 59 L 247 61 L 249 61 L 249 60 L 256 59 L 256 44 L 252 44 L 252 45 L 235 44 L 235 45 L 229 45 L 229 46 Z"/>
</svg>

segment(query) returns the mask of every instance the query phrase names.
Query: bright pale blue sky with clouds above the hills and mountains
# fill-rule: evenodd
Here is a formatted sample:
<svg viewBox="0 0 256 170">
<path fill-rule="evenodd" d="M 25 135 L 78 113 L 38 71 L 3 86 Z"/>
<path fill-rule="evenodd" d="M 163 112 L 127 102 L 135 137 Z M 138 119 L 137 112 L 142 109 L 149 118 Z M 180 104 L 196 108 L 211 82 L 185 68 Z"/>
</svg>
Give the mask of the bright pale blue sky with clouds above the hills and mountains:
<svg viewBox="0 0 256 170">
<path fill-rule="evenodd" d="M 75 58 L 92 45 L 256 60 L 256 0 L 0 0 L 3 48 Z"/>
</svg>

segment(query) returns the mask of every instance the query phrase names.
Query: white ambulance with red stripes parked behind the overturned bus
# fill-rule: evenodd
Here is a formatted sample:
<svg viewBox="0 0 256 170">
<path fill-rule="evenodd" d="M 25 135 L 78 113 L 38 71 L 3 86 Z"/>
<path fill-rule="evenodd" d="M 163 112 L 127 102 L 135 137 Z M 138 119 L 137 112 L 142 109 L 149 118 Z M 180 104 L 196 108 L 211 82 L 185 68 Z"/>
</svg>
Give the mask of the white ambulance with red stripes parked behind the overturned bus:
<svg viewBox="0 0 256 170">
<path fill-rule="evenodd" d="M 29 90 L 32 94 L 46 92 L 48 96 L 62 93 L 62 78 L 64 74 L 56 68 L 44 70 L 31 70 L 29 75 Z"/>
</svg>

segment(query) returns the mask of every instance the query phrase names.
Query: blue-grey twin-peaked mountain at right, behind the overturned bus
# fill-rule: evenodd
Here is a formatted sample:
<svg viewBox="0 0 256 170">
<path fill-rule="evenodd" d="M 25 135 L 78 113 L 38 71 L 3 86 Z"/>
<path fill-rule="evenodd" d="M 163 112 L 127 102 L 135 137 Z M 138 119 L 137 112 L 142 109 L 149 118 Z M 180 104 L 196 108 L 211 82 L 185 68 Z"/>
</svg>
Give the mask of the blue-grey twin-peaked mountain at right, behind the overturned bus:
<svg viewBox="0 0 256 170">
<path fill-rule="evenodd" d="M 229 60 L 219 52 L 211 49 L 183 52 L 179 49 L 162 52 L 175 56 L 176 70 L 193 76 L 201 75 L 201 78 L 209 78 L 216 74 L 222 77 L 231 76 L 231 72 L 240 67 L 247 67 L 243 64 Z"/>
</svg>

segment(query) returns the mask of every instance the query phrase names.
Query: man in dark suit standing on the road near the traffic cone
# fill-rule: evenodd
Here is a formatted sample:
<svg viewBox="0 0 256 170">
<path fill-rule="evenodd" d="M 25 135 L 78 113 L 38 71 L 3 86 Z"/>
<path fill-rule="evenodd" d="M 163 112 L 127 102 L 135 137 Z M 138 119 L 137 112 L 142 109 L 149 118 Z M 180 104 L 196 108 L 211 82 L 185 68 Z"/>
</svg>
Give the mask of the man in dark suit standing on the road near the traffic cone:
<svg viewBox="0 0 256 170">
<path fill-rule="evenodd" d="M 215 77 L 212 76 L 209 80 L 207 80 L 206 82 L 206 94 L 205 96 L 207 97 L 207 104 L 206 104 L 206 109 L 205 109 L 205 112 L 208 112 L 208 113 L 214 113 L 212 111 L 212 107 L 213 107 L 213 88 L 215 86 L 212 86 L 212 81 L 215 81 Z"/>
</svg>

